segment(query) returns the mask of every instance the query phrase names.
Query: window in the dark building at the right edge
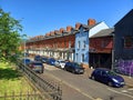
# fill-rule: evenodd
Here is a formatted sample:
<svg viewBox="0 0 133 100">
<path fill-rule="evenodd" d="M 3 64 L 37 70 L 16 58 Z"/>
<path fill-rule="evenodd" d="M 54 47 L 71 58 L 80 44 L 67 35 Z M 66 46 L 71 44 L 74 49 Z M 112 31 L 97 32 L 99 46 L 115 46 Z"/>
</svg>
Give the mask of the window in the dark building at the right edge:
<svg viewBox="0 0 133 100">
<path fill-rule="evenodd" d="M 124 48 L 133 48 L 133 37 L 124 37 Z"/>
</svg>

